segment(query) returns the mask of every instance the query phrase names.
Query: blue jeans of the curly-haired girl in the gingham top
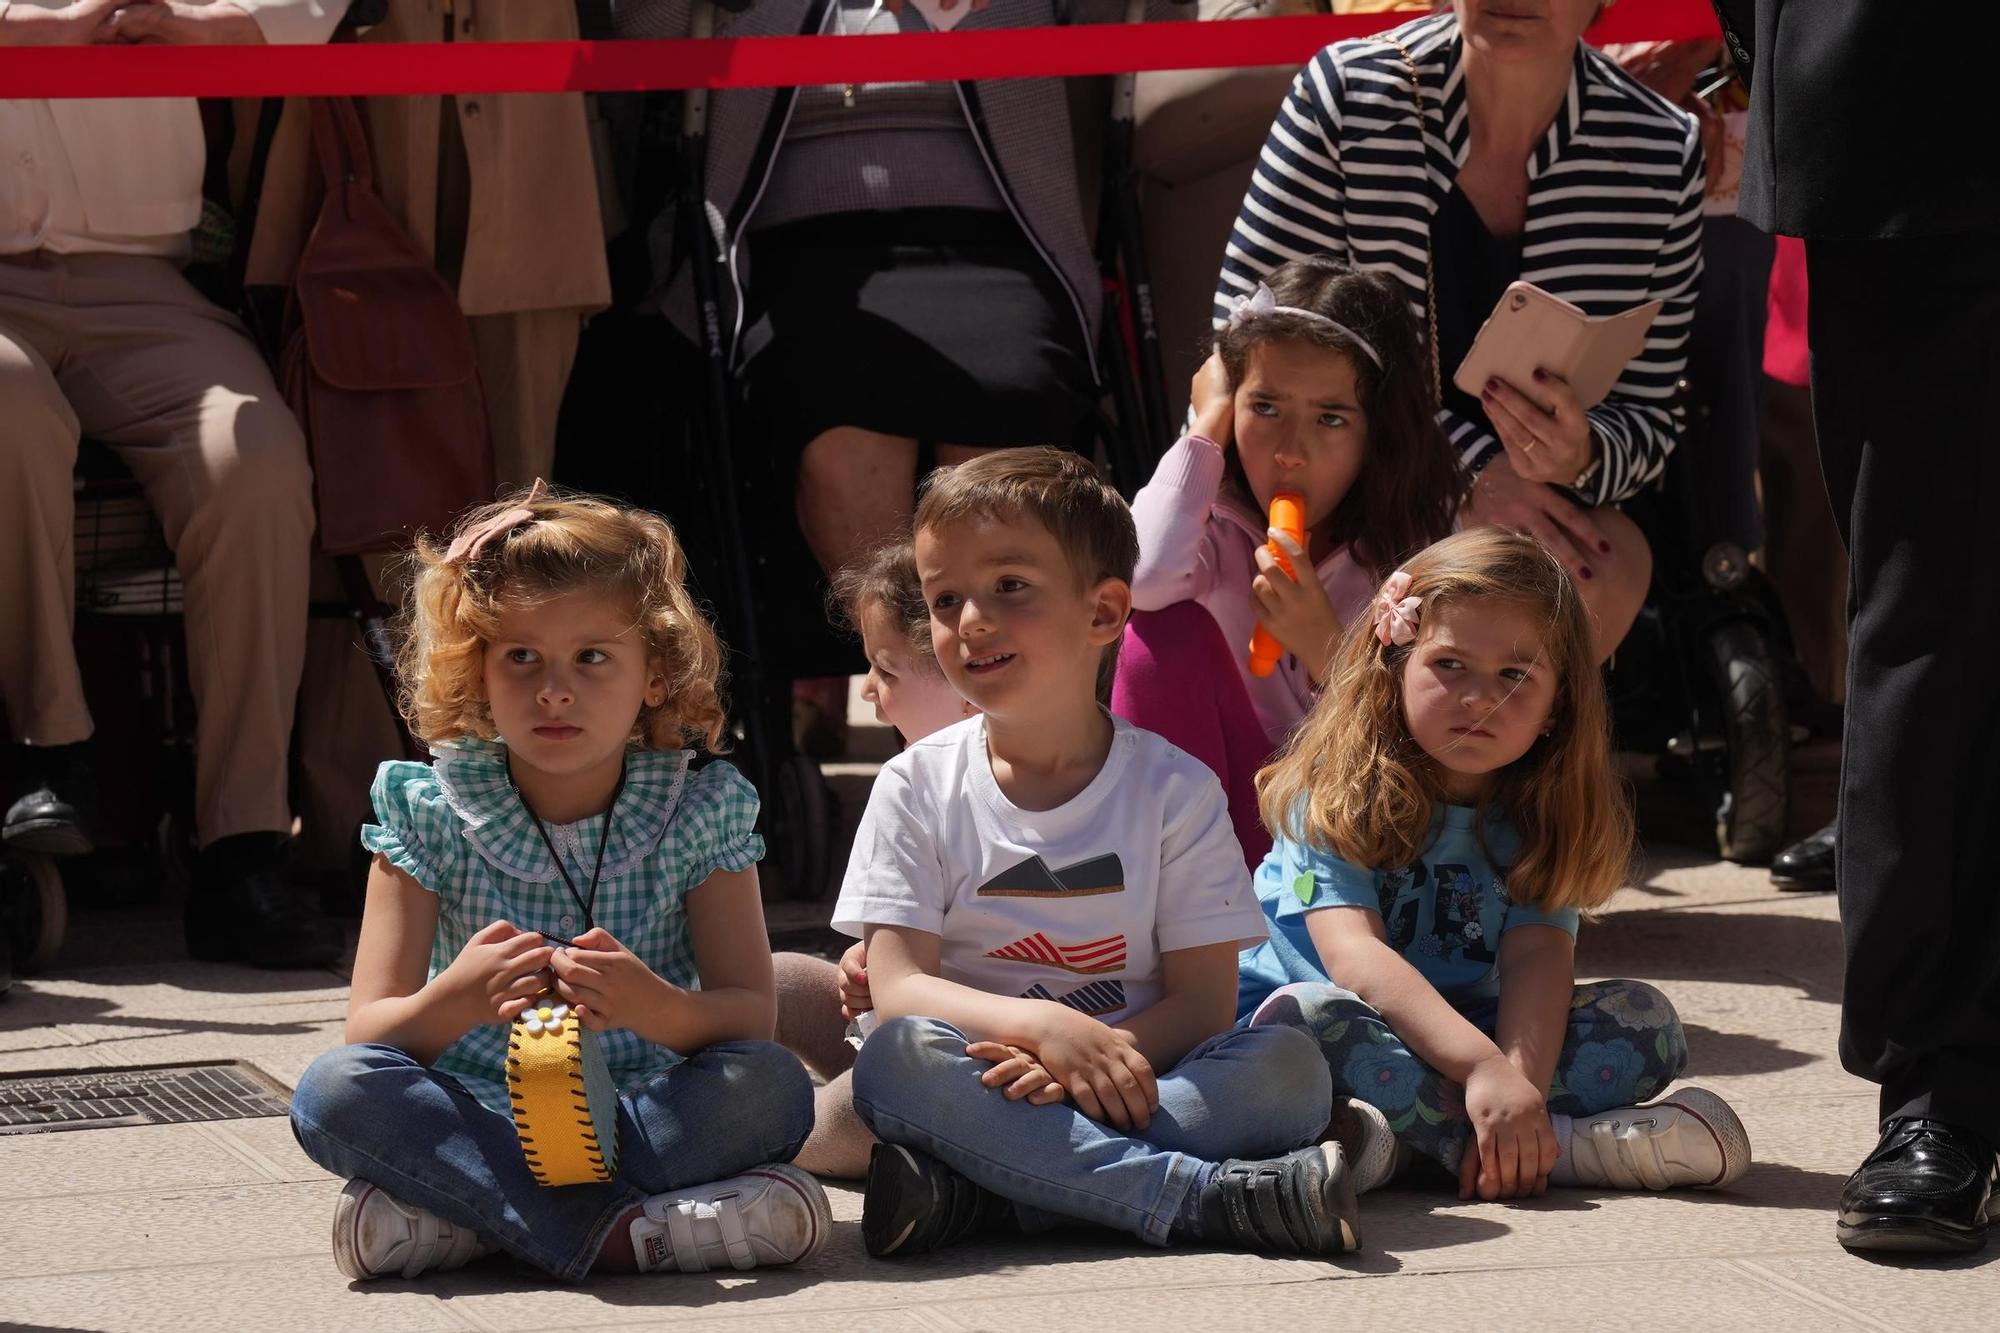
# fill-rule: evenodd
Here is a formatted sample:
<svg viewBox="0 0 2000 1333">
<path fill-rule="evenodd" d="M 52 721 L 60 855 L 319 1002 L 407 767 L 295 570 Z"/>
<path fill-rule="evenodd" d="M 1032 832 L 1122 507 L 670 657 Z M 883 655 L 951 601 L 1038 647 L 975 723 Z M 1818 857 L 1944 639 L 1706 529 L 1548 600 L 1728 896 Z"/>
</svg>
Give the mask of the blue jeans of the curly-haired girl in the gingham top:
<svg viewBox="0 0 2000 1333">
<path fill-rule="evenodd" d="M 646 1197 L 790 1161 L 810 1131 L 812 1079 L 770 1041 L 720 1041 L 626 1089 L 618 1175 L 590 1185 L 538 1185 L 510 1117 L 396 1047 L 334 1047 L 292 1093 L 306 1157 L 570 1281 Z"/>
</svg>

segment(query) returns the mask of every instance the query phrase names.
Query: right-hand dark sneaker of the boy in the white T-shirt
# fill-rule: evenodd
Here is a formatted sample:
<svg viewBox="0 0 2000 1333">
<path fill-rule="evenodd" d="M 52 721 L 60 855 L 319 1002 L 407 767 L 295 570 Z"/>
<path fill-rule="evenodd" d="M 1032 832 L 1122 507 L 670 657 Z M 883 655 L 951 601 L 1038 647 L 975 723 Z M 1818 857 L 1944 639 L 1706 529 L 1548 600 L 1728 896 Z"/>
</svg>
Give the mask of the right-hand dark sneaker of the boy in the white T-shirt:
<svg viewBox="0 0 2000 1333">
<path fill-rule="evenodd" d="M 1266 1255 L 1358 1249 L 1360 1209 L 1338 1143 L 1266 1161 L 1232 1159 L 1202 1189 L 1202 1239 Z"/>
</svg>

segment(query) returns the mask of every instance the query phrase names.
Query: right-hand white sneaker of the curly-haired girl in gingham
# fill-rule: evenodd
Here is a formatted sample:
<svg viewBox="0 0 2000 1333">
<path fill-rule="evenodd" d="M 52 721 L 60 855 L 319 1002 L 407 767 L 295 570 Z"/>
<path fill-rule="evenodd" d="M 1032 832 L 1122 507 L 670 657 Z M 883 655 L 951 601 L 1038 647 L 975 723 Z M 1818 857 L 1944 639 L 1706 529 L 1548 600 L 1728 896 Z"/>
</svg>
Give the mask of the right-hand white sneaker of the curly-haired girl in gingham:
<svg viewBox="0 0 2000 1333">
<path fill-rule="evenodd" d="M 754 1269 L 810 1259 L 832 1229 L 834 1213 L 820 1183 L 798 1167 L 774 1163 L 654 1195 L 646 1215 L 632 1223 L 632 1253 L 640 1273 Z"/>
</svg>

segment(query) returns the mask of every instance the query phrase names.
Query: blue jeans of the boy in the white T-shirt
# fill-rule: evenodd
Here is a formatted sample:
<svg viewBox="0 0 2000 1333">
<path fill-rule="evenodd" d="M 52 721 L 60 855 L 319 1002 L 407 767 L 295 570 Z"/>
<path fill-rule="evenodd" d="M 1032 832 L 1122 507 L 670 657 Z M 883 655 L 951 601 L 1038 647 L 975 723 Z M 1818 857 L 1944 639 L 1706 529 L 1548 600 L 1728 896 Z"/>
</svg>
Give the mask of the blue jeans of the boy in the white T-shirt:
<svg viewBox="0 0 2000 1333">
<path fill-rule="evenodd" d="M 1120 1133 L 1070 1103 L 1032 1107 L 980 1083 L 992 1069 L 938 1019 L 890 1019 L 854 1061 L 854 1109 L 882 1143 L 922 1149 L 1012 1199 L 1030 1229 L 1044 1213 L 1166 1245 L 1202 1163 L 1274 1157 L 1332 1119 L 1320 1049 L 1284 1027 L 1234 1029 L 1160 1075 L 1152 1125 Z"/>
</svg>

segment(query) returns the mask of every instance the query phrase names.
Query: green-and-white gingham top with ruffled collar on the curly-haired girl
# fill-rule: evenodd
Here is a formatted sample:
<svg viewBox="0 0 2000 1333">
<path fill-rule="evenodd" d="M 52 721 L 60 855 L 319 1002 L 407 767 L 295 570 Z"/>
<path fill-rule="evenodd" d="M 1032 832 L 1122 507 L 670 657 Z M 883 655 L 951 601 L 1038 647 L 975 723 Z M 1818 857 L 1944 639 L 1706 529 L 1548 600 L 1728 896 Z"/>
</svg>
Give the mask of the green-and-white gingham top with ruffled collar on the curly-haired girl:
<svg viewBox="0 0 2000 1333">
<path fill-rule="evenodd" d="M 626 751 L 624 791 L 592 917 L 654 973 L 692 991 L 700 977 L 688 941 L 688 891 L 714 871 L 762 861 L 764 839 L 754 831 L 756 789 L 726 763 L 690 773 L 690 755 Z M 362 847 L 438 895 L 430 977 L 500 919 L 562 939 L 584 933 L 582 913 L 548 859 L 534 815 L 508 779 L 504 745 L 466 739 L 434 747 L 428 765 L 390 761 L 376 773 L 370 797 L 380 823 L 362 827 Z M 602 815 L 548 825 L 570 881 L 586 895 L 602 837 Z M 602 1033 L 602 1043 L 620 1091 L 680 1059 L 624 1029 Z M 472 1029 L 432 1069 L 458 1079 L 488 1109 L 510 1115 L 504 1023 Z"/>
</svg>

